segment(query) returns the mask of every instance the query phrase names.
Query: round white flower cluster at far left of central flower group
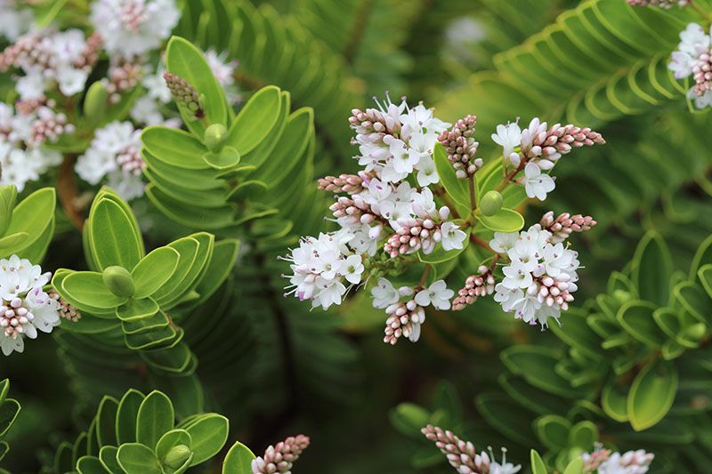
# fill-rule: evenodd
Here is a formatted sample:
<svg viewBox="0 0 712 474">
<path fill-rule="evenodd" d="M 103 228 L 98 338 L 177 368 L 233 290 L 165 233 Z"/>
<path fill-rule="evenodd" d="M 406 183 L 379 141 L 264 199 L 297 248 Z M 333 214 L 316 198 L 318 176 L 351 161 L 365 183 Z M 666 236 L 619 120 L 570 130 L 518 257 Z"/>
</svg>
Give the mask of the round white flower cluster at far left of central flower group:
<svg viewBox="0 0 712 474">
<path fill-rule="evenodd" d="M 293 289 L 287 294 L 295 293 L 301 301 L 312 300 L 312 308 L 341 304 L 349 289 L 344 280 L 349 287 L 357 285 L 364 270 L 360 255 L 346 246 L 352 238 L 344 231 L 303 238 L 284 258 L 291 262 L 289 267 L 294 272 L 287 286 Z"/>
</svg>

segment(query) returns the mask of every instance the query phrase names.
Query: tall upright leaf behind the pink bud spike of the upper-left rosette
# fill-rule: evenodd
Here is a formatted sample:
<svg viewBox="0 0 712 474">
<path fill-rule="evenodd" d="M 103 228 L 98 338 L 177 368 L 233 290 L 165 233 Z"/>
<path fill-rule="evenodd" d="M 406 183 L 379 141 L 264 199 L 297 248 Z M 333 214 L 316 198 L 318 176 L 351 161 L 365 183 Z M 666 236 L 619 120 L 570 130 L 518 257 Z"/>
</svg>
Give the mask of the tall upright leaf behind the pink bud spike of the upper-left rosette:
<svg viewBox="0 0 712 474">
<path fill-rule="evenodd" d="M 166 69 L 176 76 L 181 76 L 196 88 L 198 94 L 205 96 L 207 125 L 227 125 L 225 92 L 198 48 L 181 37 L 173 36 L 166 47 Z M 181 110 L 181 115 L 190 131 L 202 139 L 206 125 L 201 120 L 190 120 L 185 110 Z"/>
</svg>

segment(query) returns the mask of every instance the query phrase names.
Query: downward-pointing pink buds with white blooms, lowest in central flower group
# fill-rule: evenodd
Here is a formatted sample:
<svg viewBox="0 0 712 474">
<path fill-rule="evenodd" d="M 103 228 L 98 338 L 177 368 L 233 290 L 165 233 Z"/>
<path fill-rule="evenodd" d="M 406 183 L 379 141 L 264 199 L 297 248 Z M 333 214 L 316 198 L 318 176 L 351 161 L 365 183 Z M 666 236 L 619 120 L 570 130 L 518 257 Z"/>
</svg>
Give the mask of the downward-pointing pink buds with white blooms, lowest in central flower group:
<svg viewBox="0 0 712 474">
<path fill-rule="evenodd" d="M 374 308 L 385 309 L 390 315 L 385 322 L 384 342 L 395 344 L 401 337 L 417 342 L 420 325 L 425 322 L 425 308 L 433 305 L 435 309 L 450 309 L 450 298 L 454 294 L 443 280 L 433 282 L 427 288 L 414 289 L 410 286 L 396 288 L 386 278 L 378 278 L 371 296 Z M 401 301 L 403 297 L 408 300 Z"/>
</svg>

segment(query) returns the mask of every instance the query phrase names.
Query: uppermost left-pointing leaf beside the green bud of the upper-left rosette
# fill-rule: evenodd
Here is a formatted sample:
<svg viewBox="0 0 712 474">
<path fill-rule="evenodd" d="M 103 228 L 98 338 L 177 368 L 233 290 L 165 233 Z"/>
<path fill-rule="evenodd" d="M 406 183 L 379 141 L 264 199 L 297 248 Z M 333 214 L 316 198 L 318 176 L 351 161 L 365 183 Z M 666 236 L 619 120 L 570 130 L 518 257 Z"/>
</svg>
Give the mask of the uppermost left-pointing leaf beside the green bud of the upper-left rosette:
<svg viewBox="0 0 712 474">
<path fill-rule="evenodd" d="M 162 164 L 169 165 L 171 172 L 175 170 L 190 170 L 198 172 L 206 170 L 208 166 L 203 160 L 203 155 L 207 149 L 190 133 L 168 128 L 165 126 L 150 126 L 143 129 L 141 141 L 144 151 L 148 151 L 152 157 L 158 159 Z M 195 173 L 198 176 L 212 176 L 212 173 Z"/>
</svg>

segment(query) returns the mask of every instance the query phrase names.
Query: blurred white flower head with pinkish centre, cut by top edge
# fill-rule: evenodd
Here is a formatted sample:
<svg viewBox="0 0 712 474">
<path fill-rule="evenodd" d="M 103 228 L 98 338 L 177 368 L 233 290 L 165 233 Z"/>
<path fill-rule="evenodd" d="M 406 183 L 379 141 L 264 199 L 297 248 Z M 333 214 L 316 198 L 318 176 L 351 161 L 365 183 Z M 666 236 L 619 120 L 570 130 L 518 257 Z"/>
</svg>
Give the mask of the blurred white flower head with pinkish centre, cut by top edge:
<svg viewBox="0 0 712 474">
<path fill-rule="evenodd" d="M 180 18 L 174 0 L 96 0 L 90 16 L 107 52 L 125 58 L 158 49 Z"/>
</svg>

